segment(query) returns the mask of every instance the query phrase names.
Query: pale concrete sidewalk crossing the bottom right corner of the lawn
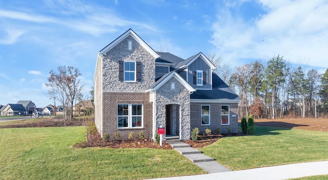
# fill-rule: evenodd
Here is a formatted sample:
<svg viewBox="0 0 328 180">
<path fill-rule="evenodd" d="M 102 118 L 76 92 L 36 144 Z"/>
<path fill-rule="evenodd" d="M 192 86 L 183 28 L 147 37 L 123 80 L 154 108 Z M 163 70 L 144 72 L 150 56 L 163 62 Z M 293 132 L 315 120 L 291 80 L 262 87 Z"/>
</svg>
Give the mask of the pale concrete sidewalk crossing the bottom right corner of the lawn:
<svg viewBox="0 0 328 180">
<path fill-rule="evenodd" d="M 245 180 L 277 180 L 298 178 L 313 175 L 328 174 L 328 161 L 319 161 L 311 163 L 298 163 L 281 166 L 272 166 L 264 168 L 247 169 L 241 171 L 218 172 L 211 174 L 179 176 L 179 177 L 164 177 L 156 178 L 162 180 L 193 180 L 193 179 L 218 179 L 218 180 L 232 180 L 232 179 L 245 179 Z"/>
</svg>

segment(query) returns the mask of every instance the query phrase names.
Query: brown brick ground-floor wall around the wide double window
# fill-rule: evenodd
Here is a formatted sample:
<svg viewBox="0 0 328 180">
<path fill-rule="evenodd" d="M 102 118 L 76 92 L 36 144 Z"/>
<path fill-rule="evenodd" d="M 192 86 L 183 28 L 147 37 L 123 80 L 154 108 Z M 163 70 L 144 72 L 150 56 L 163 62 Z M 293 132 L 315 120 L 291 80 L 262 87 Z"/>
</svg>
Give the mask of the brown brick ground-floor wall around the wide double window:
<svg viewBox="0 0 328 180">
<path fill-rule="evenodd" d="M 144 127 L 117 128 L 117 104 L 124 103 L 143 104 Z M 135 139 L 138 139 L 141 130 L 146 138 L 152 138 L 152 114 L 153 105 L 149 102 L 149 93 L 103 93 L 103 133 L 110 134 L 111 140 L 114 138 L 114 132 L 119 132 L 120 138 L 127 140 L 130 131 L 133 131 Z"/>
</svg>

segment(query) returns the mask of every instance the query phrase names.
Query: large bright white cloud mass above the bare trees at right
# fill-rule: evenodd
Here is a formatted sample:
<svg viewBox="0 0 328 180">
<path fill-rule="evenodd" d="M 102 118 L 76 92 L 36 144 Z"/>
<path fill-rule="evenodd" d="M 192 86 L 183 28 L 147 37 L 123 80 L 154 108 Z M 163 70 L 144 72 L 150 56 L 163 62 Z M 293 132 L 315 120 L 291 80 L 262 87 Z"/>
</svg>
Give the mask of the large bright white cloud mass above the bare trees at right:
<svg viewBox="0 0 328 180">
<path fill-rule="evenodd" d="M 211 43 L 218 54 L 235 63 L 240 59 L 270 59 L 282 55 L 292 63 L 328 67 L 326 1 L 261 1 L 266 14 L 250 22 L 220 9 L 212 24 Z M 239 62 L 236 62 L 239 60 Z"/>
</svg>

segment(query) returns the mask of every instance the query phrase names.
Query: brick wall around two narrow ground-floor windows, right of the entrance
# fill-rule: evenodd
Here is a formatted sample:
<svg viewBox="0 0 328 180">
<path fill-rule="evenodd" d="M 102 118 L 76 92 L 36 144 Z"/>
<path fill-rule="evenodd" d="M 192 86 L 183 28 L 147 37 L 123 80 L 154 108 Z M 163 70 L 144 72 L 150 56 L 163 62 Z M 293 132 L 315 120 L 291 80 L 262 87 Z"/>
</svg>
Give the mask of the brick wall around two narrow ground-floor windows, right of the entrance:
<svg viewBox="0 0 328 180">
<path fill-rule="evenodd" d="M 201 125 L 201 105 L 210 105 L 210 125 Z M 221 105 L 230 105 L 229 125 L 221 125 Z M 236 117 L 232 117 L 232 115 L 236 115 Z M 217 127 L 221 128 L 221 133 L 227 133 L 229 126 L 232 129 L 232 133 L 238 132 L 238 103 L 192 102 L 190 104 L 190 117 L 191 130 L 197 127 L 200 134 L 203 134 L 205 129 L 211 129 L 214 133 Z"/>
</svg>

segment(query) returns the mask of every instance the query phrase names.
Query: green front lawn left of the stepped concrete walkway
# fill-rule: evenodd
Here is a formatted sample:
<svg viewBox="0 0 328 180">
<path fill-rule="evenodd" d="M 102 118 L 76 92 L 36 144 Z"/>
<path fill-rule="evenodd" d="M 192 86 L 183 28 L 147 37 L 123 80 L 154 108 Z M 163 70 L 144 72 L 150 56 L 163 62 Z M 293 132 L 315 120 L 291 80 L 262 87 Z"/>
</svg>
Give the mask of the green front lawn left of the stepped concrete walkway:
<svg viewBox="0 0 328 180">
<path fill-rule="evenodd" d="M 206 173 L 174 150 L 71 148 L 85 127 L 0 129 L 1 179 L 141 179 Z"/>
</svg>

